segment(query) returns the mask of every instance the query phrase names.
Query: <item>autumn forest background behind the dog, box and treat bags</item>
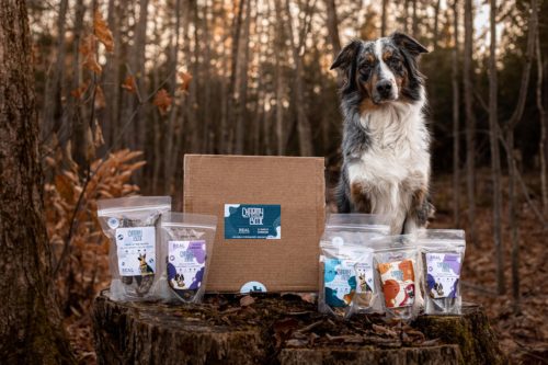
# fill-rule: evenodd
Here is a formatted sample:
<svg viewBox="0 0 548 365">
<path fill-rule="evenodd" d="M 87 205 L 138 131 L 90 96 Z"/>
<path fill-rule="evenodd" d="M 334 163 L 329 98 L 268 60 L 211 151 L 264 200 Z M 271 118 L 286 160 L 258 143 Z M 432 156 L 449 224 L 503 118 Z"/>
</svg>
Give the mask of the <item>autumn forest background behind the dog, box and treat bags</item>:
<svg viewBox="0 0 548 365">
<path fill-rule="evenodd" d="M 94 362 L 90 305 L 109 283 L 96 199 L 181 207 L 194 152 L 323 156 L 331 203 L 343 76 L 329 67 L 351 38 L 393 31 L 431 50 L 432 226 L 467 230 L 465 299 L 514 362 L 548 358 L 546 0 L 26 4 L 52 267 L 78 360 Z"/>
</svg>

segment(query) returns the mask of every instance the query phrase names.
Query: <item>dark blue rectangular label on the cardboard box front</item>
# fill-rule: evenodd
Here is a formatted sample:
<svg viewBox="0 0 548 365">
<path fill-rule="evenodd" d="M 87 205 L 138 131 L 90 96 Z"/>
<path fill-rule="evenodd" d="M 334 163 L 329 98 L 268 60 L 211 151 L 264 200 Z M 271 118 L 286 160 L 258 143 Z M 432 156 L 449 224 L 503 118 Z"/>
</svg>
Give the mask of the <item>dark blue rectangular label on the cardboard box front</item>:
<svg viewBox="0 0 548 365">
<path fill-rule="evenodd" d="M 225 204 L 225 239 L 281 239 L 282 208 L 274 204 Z"/>
</svg>

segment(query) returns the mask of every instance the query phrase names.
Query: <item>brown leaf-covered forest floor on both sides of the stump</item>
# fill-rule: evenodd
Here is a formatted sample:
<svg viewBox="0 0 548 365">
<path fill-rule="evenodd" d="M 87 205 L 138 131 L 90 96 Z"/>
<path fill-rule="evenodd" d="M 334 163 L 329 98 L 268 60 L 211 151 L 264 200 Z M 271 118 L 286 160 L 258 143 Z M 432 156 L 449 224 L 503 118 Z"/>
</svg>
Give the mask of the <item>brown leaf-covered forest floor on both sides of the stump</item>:
<svg viewBox="0 0 548 365">
<path fill-rule="evenodd" d="M 548 231 L 535 217 L 525 203 L 520 205 L 520 243 L 521 243 L 521 312 L 514 313 L 511 276 L 511 243 L 507 229 L 506 212 L 504 213 L 505 244 L 505 280 L 507 294 L 494 295 L 495 260 L 492 243 L 492 210 L 490 208 L 491 190 L 488 175 L 479 175 L 477 229 L 479 242 L 477 246 L 468 242 L 464 280 L 464 300 L 483 305 L 501 341 L 501 349 L 513 364 L 548 364 Z M 532 183 L 533 181 L 533 183 Z M 527 179 L 535 192 L 538 186 L 534 179 Z M 463 184 L 464 186 L 464 184 Z M 436 217 L 431 228 L 454 228 L 450 176 L 437 176 L 433 185 L 433 201 L 436 206 Z M 464 193 L 464 192 L 463 192 Z M 465 194 L 463 194 L 465 195 Z M 538 195 L 535 195 L 538 196 Z M 534 202 L 538 204 L 538 199 Z M 465 201 L 465 198 L 463 198 Z M 461 202 L 466 204 L 466 202 Z M 466 229 L 466 210 L 461 210 L 461 227 Z M 109 286 L 106 275 L 98 275 L 95 288 Z M 79 307 L 71 308 L 65 324 L 78 360 L 83 364 L 94 364 L 93 333 L 91 328 L 91 299 L 84 300 Z"/>
</svg>

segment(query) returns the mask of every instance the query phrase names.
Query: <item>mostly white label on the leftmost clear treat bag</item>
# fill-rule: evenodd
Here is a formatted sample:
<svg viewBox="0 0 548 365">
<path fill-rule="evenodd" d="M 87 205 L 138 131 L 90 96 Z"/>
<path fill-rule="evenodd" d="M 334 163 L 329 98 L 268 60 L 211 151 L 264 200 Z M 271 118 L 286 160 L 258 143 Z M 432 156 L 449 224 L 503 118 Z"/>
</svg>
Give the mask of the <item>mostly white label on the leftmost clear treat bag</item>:
<svg viewBox="0 0 548 365">
<path fill-rule="evenodd" d="M 156 271 L 156 228 L 116 228 L 121 276 L 152 275 Z"/>
</svg>

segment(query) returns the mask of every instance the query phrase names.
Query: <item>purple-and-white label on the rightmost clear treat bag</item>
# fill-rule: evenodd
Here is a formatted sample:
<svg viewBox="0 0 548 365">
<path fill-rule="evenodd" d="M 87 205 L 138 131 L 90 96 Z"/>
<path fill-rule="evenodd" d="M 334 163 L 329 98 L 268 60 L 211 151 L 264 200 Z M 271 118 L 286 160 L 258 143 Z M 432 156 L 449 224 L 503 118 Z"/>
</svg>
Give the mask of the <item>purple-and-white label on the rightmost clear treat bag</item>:
<svg viewBox="0 0 548 365">
<path fill-rule="evenodd" d="M 426 253 L 426 288 L 432 298 L 457 297 L 460 260 L 456 253 Z"/>
</svg>

